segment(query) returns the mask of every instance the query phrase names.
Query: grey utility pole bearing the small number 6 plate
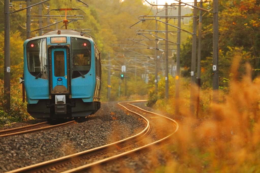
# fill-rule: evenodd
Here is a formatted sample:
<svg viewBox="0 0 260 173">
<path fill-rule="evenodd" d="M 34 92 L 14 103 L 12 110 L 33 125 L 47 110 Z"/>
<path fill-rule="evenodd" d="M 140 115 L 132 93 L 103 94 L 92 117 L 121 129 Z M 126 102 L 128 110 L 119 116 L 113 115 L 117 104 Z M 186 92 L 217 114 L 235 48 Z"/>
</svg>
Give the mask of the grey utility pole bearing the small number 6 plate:
<svg viewBox="0 0 260 173">
<path fill-rule="evenodd" d="M 197 7 L 197 0 L 194 0 L 194 6 Z M 193 8 L 193 33 L 192 33 L 192 55 L 191 55 L 191 98 L 190 98 L 190 112 L 194 116 L 195 111 L 195 86 L 196 86 L 196 37 L 197 37 L 197 9 Z"/>
</svg>

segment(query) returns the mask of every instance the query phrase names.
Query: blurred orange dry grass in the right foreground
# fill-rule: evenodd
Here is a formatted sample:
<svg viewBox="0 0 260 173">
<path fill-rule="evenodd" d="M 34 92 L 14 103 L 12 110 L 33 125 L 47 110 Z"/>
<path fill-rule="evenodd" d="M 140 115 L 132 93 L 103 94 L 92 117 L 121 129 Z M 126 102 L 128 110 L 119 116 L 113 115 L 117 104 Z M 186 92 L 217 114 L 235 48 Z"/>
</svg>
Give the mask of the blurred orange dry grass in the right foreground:
<svg viewBox="0 0 260 173">
<path fill-rule="evenodd" d="M 239 80 L 239 55 L 234 59 L 226 102 L 213 104 L 209 99 L 212 92 L 201 92 L 204 108 L 201 106 L 200 117 L 207 119 L 190 116 L 188 96 L 179 101 L 186 118 L 170 145 L 174 154 L 168 154 L 167 164 L 155 172 L 260 172 L 260 82 L 252 82 L 248 64 L 246 75 Z M 188 90 L 184 87 L 182 92 L 185 95 Z M 171 101 L 161 108 L 174 113 L 174 99 Z"/>
</svg>

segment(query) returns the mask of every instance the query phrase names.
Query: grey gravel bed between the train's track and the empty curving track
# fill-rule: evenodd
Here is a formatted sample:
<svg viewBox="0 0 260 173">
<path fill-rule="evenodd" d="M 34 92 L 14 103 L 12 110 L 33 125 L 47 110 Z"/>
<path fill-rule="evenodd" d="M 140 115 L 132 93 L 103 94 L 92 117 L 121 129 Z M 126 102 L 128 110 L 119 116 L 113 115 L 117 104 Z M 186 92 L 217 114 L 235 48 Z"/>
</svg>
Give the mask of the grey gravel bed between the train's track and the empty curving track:
<svg viewBox="0 0 260 173">
<path fill-rule="evenodd" d="M 119 109 L 115 102 L 102 103 L 97 113 L 77 122 L 66 127 L 0 138 L 0 173 L 103 146 L 145 128 L 142 120 Z"/>
</svg>

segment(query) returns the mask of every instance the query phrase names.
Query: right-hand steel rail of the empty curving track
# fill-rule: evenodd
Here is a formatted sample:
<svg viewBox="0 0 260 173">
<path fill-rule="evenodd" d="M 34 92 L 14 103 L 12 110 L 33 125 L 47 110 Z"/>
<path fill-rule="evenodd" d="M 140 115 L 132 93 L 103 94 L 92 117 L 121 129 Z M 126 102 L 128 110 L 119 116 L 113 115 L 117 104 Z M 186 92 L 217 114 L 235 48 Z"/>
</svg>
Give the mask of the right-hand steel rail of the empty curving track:
<svg viewBox="0 0 260 173">
<path fill-rule="evenodd" d="M 141 100 L 138 100 L 138 101 L 141 101 Z M 147 101 L 147 100 L 142 100 L 142 101 Z M 136 102 L 136 101 L 126 101 L 126 102 Z M 126 102 L 120 102 L 120 103 L 126 103 Z M 131 104 L 129 104 L 131 105 Z M 122 105 L 120 105 L 122 106 Z M 146 150 L 146 149 L 149 149 L 151 148 L 152 146 L 156 145 L 156 144 L 159 144 L 159 143 L 162 143 L 163 141 L 169 139 L 174 133 L 177 132 L 178 128 L 179 128 L 179 125 L 176 121 L 166 117 L 166 116 L 163 116 L 163 115 L 159 115 L 159 114 L 156 114 L 156 113 L 153 113 L 153 112 L 150 112 L 150 111 L 147 111 L 147 110 L 144 110 L 144 109 L 141 109 L 135 105 L 131 105 L 131 106 L 134 106 L 140 110 L 143 110 L 145 112 L 148 112 L 148 113 L 152 113 L 154 115 L 158 115 L 170 122 L 173 123 L 173 125 L 176 127 L 175 131 L 173 133 L 171 133 L 170 135 L 158 140 L 158 141 L 155 141 L 153 143 L 150 143 L 150 144 L 147 144 L 145 146 L 142 146 L 142 147 L 139 147 L 139 148 L 136 148 L 136 149 L 133 149 L 133 150 L 130 150 L 130 151 L 127 151 L 127 152 L 124 152 L 124 153 L 121 153 L 121 154 L 118 154 L 118 155 L 115 155 L 115 156 L 112 156 L 112 157 L 108 157 L 108 158 L 105 158 L 105 159 L 102 159 L 102 160 L 99 160 L 99 161 L 96 161 L 96 162 L 93 162 L 93 163 L 89 163 L 89 164 L 86 164 L 86 165 L 83 165 L 81 167 L 77 167 L 77 168 L 74 168 L 74 169 L 70 169 L 70 170 L 67 170 L 67 171 L 64 171 L 64 172 L 61 172 L 61 173 L 79 173 L 79 172 L 85 172 L 87 169 L 90 169 L 90 168 L 93 168 L 93 167 L 96 167 L 100 164 L 104 164 L 104 163 L 107 163 L 107 162 L 111 162 L 111 161 L 114 161 L 116 159 L 119 159 L 119 158 L 122 158 L 124 156 L 128 156 L 128 155 L 131 155 L 131 154 L 134 154 L 134 153 L 137 153 L 139 151 L 142 151 L 142 150 Z M 123 106 L 125 107 L 125 106 Z M 126 107 L 125 107 L 126 108 Z M 129 110 L 129 109 L 128 109 Z M 131 111 L 132 112 L 132 111 Z"/>
</svg>

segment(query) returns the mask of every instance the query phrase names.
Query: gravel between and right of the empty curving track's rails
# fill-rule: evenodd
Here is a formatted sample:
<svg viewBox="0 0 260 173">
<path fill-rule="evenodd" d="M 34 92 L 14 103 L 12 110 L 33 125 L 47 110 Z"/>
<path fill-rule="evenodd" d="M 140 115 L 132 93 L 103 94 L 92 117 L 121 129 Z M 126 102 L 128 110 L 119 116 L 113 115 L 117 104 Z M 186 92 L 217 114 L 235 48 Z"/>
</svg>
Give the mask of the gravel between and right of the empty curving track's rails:
<svg viewBox="0 0 260 173">
<path fill-rule="evenodd" d="M 137 103 L 135 103 L 135 104 L 137 104 Z M 123 147 L 121 149 L 110 151 L 104 155 L 97 155 L 95 157 L 91 157 L 86 160 L 80 159 L 80 161 L 75 161 L 73 164 L 68 164 L 62 168 L 57 168 L 57 169 L 54 169 L 54 170 L 51 170 L 48 172 L 53 172 L 53 173 L 63 172 L 63 171 L 69 170 L 69 169 L 80 167 L 85 164 L 89 164 L 89 163 L 96 162 L 98 160 L 102 160 L 104 158 L 111 157 L 111 156 L 129 151 L 129 150 L 133 150 L 135 148 L 138 148 L 138 147 L 144 146 L 146 144 L 160 140 L 163 137 L 166 137 L 170 132 L 173 132 L 173 130 L 175 130 L 175 128 L 172 128 L 172 125 L 170 125 L 168 122 L 165 122 L 160 118 L 156 118 L 155 117 L 156 115 L 143 112 L 137 108 L 126 105 L 126 103 L 123 103 L 123 105 L 126 106 L 127 108 L 145 116 L 149 120 L 149 122 L 151 123 L 151 126 L 152 126 L 152 130 L 149 135 L 145 136 L 142 140 L 137 141 L 134 144 L 127 145 L 126 147 Z M 144 102 L 139 103 L 139 105 L 142 105 L 143 108 L 145 108 Z M 151 109 L 149 109 L 149 110 L 151 112 L 154 112 Z M 166 157 L 169 157 L 169 155 L 165 156 L 165 151 L 167 151 L 165 149 L 168 148 L 168 144 L 169 143 L 165 142 L 161 145 L 155 145 L 152 148 L 150 148 L 149 151 L 132 154 L 131 156 L 123 157 L 119 160 L 115 160 L 108 164 L 99 165 L 98 167 L 96 167 L 94 169 L 86 170 L 86 172 L 150 172 L 151 170 L 157 168 L 158 166 L 164 165 L 166 163 L 166 160 L 167 160 Z M 172 154 L 170 153 L 170 157 L 171 156 L 172 156 Z"/>
</svg>

